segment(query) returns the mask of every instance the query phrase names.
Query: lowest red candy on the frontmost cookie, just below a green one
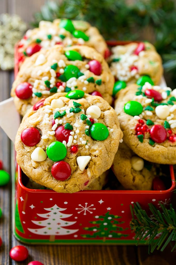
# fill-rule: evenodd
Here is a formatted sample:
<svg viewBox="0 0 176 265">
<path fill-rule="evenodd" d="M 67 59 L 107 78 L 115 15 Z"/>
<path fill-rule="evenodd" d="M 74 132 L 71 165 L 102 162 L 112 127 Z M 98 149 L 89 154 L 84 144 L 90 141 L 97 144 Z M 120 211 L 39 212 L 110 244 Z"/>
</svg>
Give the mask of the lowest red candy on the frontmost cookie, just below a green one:
<svg viewBox="0 0 176 265">
<path fill-rule="evenodd" d="M 70 165 L 64 161 L 56 162 L 51 168 L 51 174 L 57 180 L 66 180 L 71 175 Z"/>
</svg>

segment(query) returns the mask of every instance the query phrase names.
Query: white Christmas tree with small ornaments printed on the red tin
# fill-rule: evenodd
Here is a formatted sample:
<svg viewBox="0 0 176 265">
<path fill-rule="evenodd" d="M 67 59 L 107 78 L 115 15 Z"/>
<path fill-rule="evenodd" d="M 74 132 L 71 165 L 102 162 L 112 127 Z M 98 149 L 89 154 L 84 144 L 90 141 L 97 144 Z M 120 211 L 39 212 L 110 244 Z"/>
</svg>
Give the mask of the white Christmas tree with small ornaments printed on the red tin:
<svg viewBox="0 0 176 265">
<path fill-rule="evenodd" d="M 27 228 L 30 232 L 37 234 L 37 235 L 50 235 L 50 241 L 55 240 L 55 236 L 61 236 L 61 235 L 69 235 L 76 233 L 79 229 L 67 229 L 63 227 L 72 226 L 76 223 L 65 221 L 63 218 L 68 218 L 72 216 L 73 214 L 63 214 L 61 211 L 65 211 L 66 208 L 60 208 L 56 204 L 51 208 L 44 208 L 44 210 L 49 211 L 45 214 L 37 214 L 38 216 L 42 218 L 46 218 L 45 220 L 41 221 L 34 221 L 31 220 L 32 223 L 43 226 L 42 228 Z"/>
</svg>

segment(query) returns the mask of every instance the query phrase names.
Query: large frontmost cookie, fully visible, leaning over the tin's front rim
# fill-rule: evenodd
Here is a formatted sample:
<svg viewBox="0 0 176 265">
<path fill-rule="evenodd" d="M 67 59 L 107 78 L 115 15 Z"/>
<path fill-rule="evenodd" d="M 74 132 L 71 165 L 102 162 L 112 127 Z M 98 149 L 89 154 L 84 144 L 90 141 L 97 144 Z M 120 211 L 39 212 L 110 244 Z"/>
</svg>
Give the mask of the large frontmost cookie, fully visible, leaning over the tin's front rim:
<svg viewBox="0 0 176 265">
<path fill-rule="evenodd" d="M 121 138 L 117 114 L 103 98 L 81 90 L 57 93 L 23 117 L 16 159 L 36 183 L 72 193 L 111 167 Z"/>
</svg>

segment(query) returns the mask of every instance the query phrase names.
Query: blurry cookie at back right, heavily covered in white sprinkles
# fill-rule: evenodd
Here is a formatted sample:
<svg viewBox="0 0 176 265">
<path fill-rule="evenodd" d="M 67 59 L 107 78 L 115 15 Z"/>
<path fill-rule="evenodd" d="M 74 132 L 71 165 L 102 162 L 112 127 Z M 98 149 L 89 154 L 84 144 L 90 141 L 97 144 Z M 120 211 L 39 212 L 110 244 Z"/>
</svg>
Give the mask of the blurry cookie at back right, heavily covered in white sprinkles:
<svg viewBox="0 0 176 265">
<path fill-rule="evenodd" d="M 163 74 L 161 57 L 149 42 L 113 47 L 109 63 L 116 80 L 125 81 L 127 85 L 136 83 L 143 75 L 150 76 L 158 85 Z"/>
</svg>

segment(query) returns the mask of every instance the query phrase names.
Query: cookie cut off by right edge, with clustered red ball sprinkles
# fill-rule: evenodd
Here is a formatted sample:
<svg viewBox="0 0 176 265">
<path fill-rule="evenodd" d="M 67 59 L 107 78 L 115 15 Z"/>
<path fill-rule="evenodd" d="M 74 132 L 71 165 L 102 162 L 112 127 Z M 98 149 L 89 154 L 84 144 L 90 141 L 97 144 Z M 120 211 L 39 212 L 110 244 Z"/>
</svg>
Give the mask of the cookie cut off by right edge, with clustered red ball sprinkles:
<svg viewBox="0 0 176 265">
<path fill-rule="evenodd" d="M 140 157 L 176 164 L 176 90 L 130 85 L 118 92 L 115 111 L 124 142 Z"/>
</svg>

